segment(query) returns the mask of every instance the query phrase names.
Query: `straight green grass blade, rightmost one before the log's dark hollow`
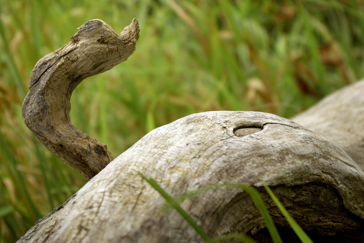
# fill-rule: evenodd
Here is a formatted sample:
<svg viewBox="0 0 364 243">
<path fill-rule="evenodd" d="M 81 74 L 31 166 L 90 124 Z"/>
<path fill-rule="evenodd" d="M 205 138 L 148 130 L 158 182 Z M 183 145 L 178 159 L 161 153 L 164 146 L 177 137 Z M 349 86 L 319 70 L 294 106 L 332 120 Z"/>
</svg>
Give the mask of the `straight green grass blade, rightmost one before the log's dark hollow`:
<svg viewBox="0 0 364 243">
<path fill-rule="evenodd" d="M 302 243 L 313 243 L 312 240 L 308 237 L 308 235 L 302 230 L 301 226 L 299 226 L 296 222 L 296 220 L 293 219 L 293 217 L 289 214 L 287 209 L 284 208 L 284 206 L 281 204 L 281 202 L 278 200 L 276 195 L 272 192 L 272 190 L 265 184 L 264 181 L 262 181 L 264 188 L 268 192 L 269 196 L 272 198 L 274 203 L 277 205 L 278 209 L 282 212 L 283 216 L 288 221 L 289 225 L 293 229 L 293 231 L 296 233 L 298 238 L 300 238 Z"/>
</svg>

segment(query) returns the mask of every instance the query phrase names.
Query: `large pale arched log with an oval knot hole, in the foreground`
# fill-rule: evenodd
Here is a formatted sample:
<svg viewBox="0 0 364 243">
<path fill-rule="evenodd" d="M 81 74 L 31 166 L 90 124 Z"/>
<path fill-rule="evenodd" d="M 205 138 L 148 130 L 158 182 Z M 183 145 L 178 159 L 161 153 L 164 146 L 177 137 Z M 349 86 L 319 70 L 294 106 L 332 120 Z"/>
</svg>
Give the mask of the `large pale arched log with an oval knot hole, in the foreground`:
<svg viewBox="0 0 364 243">
<path fill-rule="evenodd" d="M 74 75 L 84 77 L 82 72 Z M 42 82 L 46 78 L 35 83 L 29 100 Z M 47 98 L 43 101 L 51 103 Z M 24 114 L 25 121 L 33 119 L 27 117 L 34 115 L 29 109 Z M 44 115 L 46 126 L 52 126 L 49 116 Z M 62 137 L 56 142 L 61 147 Z M 106 150 L 103 148 L 96 154 Z M 99 168 L 107 164 L 105 160 L 99 161 Z M 152 177 L 172 196 L 211 184 L 251 185 L 260 191 L 281 237 L 294 242 L 288 223 L 262 188 L 262 179 L 314 240 L 364 240 L 364 173 L 343 149 L 273 114 L 210 111 L 148 133 L 18 242 L 202 242 L 177 212 L 162 210 L 165 200 L 139 172 Z M 241 232 L 268 242 L 253 201 L 239 189 L 208 191 L 183 201 L 182 207 L 210 237 Z"/>
</svg>

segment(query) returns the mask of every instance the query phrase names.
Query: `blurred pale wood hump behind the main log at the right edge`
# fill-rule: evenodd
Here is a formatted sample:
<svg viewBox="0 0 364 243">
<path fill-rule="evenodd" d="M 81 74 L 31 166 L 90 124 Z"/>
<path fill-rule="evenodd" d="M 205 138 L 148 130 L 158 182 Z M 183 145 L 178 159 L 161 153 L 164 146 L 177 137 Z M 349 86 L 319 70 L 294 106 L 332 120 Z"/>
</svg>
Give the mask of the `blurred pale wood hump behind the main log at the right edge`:
<svg viewBox="0 0 364 243">
<path fill-rule="evenodd" d="M 334 141 L 364 169 L 364 80 L 336 91 L 292 120 Z"/>
</svg>

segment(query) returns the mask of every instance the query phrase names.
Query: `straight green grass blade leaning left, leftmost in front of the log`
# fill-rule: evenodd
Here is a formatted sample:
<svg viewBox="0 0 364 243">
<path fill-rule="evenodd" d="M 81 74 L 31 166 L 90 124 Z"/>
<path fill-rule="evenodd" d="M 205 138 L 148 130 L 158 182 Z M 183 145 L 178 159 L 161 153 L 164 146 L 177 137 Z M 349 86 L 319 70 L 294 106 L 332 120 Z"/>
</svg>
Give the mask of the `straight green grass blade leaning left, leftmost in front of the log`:
<svg viewBox="0 0 364 243">
<path fill-rule="evenodd" d="M 142 173 L 139 173 L 139 176 L 141 176 L 144 180 L 147 181 L 147 183 L 149 183 L 155 190 L 157 190 L 159 194 L 161 194 L 161 196 L 164 197 L 166 201 L 174 209 L 177 210 L 177 212 L 187 221 L 187 223 L 189 223 L 190 226 L 194 228 L 197 234 L 199 234 L 205 242 L 212 242 L 209 236 L 207 236 L 207 234 L 197 225 L 197 223 L 190 217 L 190 215 L 188 215 L 188 213 L 179 206 L 177 201 L 175 201 L 171 196 L 168 195 L 168 193 L 166 193 L 161 187 L 159 187 L 159 185 L 155 183 L 153 179 L 145 177 Z"/>
</svg>

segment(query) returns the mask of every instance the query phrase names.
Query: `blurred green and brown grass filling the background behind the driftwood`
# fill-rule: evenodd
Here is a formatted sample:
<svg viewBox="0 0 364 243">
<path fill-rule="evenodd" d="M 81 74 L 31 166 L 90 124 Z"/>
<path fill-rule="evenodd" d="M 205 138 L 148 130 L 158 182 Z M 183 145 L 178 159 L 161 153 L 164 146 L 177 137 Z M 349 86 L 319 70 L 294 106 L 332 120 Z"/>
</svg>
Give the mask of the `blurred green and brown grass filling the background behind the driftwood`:
<svg viewBox="0 0 364 243">
<path fill-rule="evenodd" d="M 73 124 L 114 157 L 192 113 L 289 118 L 364 76 L 361 0 L 0 0 L 0 242 L 15 242 L 86 183 L 22 121 L 35 63 L 88 20 L 121 32 L 133 17 L 134 54 L 71 97 Z"/>
</svg>

